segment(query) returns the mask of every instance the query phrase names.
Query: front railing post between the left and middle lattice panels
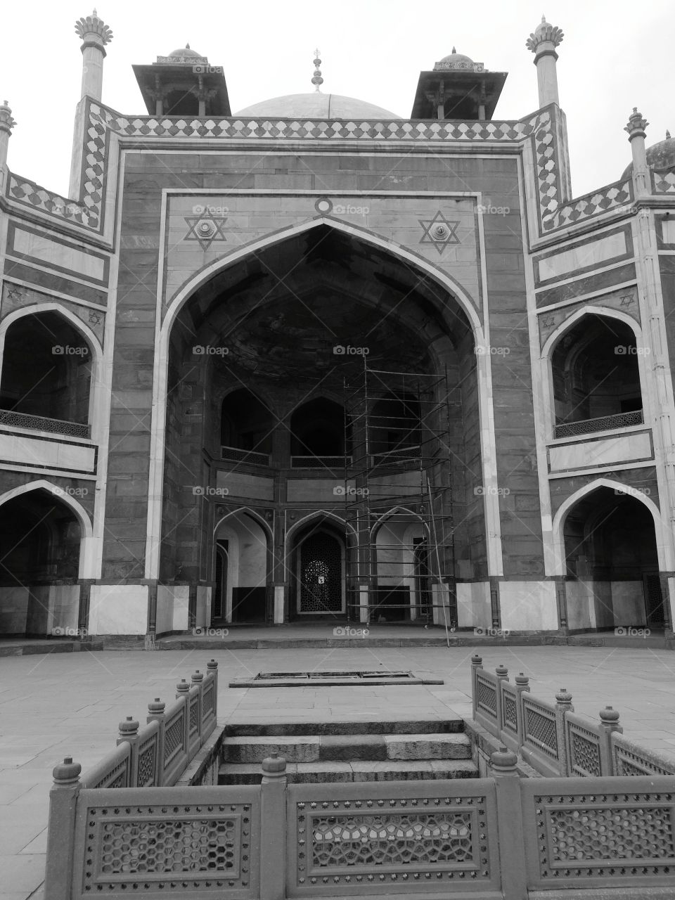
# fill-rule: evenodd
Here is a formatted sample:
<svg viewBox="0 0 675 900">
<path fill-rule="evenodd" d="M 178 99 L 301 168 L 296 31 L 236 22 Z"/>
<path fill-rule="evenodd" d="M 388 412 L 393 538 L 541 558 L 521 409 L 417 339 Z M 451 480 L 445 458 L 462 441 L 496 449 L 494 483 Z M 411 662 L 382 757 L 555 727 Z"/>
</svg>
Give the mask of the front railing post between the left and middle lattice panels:
<svg viewBox="0 0 675 900">
<path fill-rule="evenodd" d="M 286 761 L 263 760 L 260 795 L 260 900 L 286 896 Z"/>
</svg>

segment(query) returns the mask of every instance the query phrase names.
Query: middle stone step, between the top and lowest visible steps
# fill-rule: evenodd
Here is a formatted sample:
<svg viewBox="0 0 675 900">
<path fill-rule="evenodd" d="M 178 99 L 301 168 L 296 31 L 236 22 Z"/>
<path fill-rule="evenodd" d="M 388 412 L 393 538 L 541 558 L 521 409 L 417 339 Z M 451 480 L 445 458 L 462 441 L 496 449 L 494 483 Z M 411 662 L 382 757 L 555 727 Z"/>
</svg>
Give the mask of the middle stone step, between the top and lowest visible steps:
<svg viewBox="0 0 675 900">
<path fill-rule="evenodd" d="M 470 760 L 466 734 L 319 734 L 236 736 L 225 739 L 222 760 L 262 762 L 278 753 L 288 762 Z"/>
</svg>

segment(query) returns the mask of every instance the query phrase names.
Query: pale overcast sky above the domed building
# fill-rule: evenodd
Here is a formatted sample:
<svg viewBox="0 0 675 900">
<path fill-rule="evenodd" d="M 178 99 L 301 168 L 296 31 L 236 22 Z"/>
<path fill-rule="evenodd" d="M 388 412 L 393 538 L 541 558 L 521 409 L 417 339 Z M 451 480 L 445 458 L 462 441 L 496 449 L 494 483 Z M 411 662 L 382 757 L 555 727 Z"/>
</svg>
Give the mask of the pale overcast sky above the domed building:
<svg viewBox="0 0 675 900">
<path fill-rule="evenodd" d="M 114 35 L 106 48 L 103 103 L 125 114 L 146 114 L 131 65 L 189 42 L 211 65 L 224 67 L 233 112 L 313 90 L 318 47 L 324 93 L 358 97 L 405 117 L 420 70 L 433 68 L 455 45 L 486 68 L 509 73 L 495 114 L 519 119 L 538 105 L 534 55 L 525 41 L 545 14 L 564 32 L 558 85 L 575 196 L 616 181 L 630 163 L 623 129 L 634 106 L 650 122 L 648 146 L 666 129 L 675 135 L 673 0 L 97 2 Z M 23 4 L 3 10 L 0 96 L 18 123 L 8 163 L 58 193 L 67 193 L 80 95 L 75 22 L 90 13 L 85 0 L 31 0 L 30 22 Z"/>
</svg>

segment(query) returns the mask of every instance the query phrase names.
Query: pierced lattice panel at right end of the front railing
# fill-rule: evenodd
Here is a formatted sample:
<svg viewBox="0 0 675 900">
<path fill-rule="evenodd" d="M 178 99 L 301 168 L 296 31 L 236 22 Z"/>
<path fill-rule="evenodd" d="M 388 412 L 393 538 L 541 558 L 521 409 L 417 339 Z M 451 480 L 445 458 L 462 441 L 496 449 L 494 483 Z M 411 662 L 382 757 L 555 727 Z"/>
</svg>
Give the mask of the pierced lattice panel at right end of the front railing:
<svg viewBox="0 0 675 900">
<path fill-rule="evenodd" d="M 534 801 L 542 878 L 658 875 L 672 870 L 672 795 L 559 795 Z M 637 860 L 652 865 L 635 866 Z M 669 864 L 653 865 L 656 860 Z"/>
</svg>

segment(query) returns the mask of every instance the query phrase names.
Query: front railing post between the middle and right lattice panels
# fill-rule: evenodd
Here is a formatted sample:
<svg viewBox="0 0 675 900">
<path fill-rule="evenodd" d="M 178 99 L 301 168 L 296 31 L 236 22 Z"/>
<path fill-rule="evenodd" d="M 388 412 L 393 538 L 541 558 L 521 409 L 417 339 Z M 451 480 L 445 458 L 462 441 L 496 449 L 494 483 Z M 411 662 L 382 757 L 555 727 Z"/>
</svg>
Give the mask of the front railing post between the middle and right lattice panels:
<svg viewBox="0 0 675 900">
<path fill-rule="evenodd" d="M 497 792 L 497 831 L 504 900 L 527 898 L 523 802 L 517 761 L 518 756 L 506 747 L 500 747 L 490 758 Z"/>
</svg>

